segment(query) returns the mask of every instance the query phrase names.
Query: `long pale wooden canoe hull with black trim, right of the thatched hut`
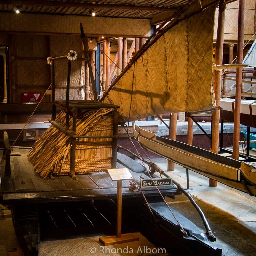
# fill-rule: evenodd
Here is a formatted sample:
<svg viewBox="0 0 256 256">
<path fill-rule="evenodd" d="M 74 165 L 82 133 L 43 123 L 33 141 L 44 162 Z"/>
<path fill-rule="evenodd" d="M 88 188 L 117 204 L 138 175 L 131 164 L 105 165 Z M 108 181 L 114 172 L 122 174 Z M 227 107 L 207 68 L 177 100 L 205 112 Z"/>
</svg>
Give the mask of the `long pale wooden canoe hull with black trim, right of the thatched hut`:
<svg viewBox="0 0 256 256">
<path fill-rule="evenodd" d="M 165 138 L 158 137 L 152 132 L 145 131 L 136 125 L 134 128 L 134 136 L 143 147 L 159 156 L 232 188 L 256 195 L 256 173 L 253 171 L 255 169 L 252 165 L 249 165 L 251 167 L 247 167 L 246 169 L 243 164 L 243 169 L 246 169 L 247 171 L 242 172 L 240 168 L 241 163 L 239 161 L 219 156 L 218 154 L 185 143 L 167 139 L 170 144 L 173 142 L 175 146 L 173 144 L 170 145 L 169 143 L 163 142 L 163 140 L 166 140 Z M 188 150 L 186 150 L 186 148 L 188 148 Z M 196 153 L 197 151 L 200 155 Z M 248 164 L 246 165 L 248 166 Z M 246 188 L 243 185 L 242 180 L 247 182 Z M 253 182 L 254 184 L 251 184 L 248 180 L 255 181 L 255 183 Z"/>
</svg>

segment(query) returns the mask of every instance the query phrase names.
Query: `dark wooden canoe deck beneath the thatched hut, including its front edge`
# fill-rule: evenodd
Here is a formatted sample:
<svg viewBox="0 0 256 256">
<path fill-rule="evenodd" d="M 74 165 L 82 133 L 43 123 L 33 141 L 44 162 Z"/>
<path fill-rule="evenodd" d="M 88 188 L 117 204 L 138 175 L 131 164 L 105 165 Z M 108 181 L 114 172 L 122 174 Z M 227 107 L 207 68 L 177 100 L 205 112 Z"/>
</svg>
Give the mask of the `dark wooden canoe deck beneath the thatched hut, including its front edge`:
<svg viewBox="0 0 256 256">
<path fill-rule="evenodd" d="M 112 181 L 106 172 L 94 172 L 92 174 L 77 175 L 76 180 L 69 176 L 55 177 L 55 180 L 42 178 L 34 171 L 32 164 L 29 163 L 27 153 L 29 147 L 15 147 L 11 153 L 11 177 L 4 176 L 5 161 L 0 166 L 2 198 L 4 201 L 13 200 L 33 200 L 44 202 L 56 199 L 62 200 L 84 200 L 92 197 L 116 197 L 117 182 Z M 144 173 L 136 173 L 137 162 L 131 159 L 130 172 L 133 180 L 140 184 L 140 177 L 147 179 Z M 118 168 L 124 168 L 124 165 L 117 163 Z M 127 166 L 127 161 L 125 162 Z M 140 165 L 140 167 L 142 167 Z M 122 182 L 123 196 L 141 196 L 140 192 L 131 192 L 129 180 Z M 167 192 L 167 191 L 166 191 Z M 176 192 L 176 189 L 168 191 Z M 146 194 L 156 194 L 154 191 Z M 152 195 L 153 195 L 152 194 Z"/>
</svg>

